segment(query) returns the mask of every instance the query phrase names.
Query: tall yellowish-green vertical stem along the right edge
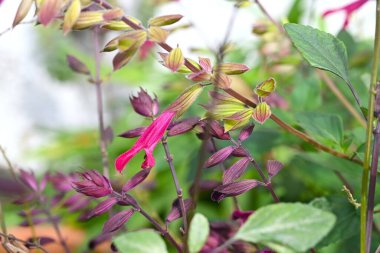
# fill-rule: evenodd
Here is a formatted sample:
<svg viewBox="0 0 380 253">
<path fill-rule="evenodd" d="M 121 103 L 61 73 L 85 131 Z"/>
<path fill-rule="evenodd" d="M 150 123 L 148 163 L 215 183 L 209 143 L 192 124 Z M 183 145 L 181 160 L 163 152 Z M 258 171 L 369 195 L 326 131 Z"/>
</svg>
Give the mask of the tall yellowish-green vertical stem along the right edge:
<svg viewBox="0 0 380 253">
<path fill-rule="evenodd" d="M 374 43 L 374 56 L 371 71 L 371 85 L 369 88 L 368 124 L 366 131 L 366 144 L 362 173 L 361 209 L 360 209 L 360 252 L 366 252 L 366 220 L 367 220 L 367 191 L 369 180 L 369 164 L 371 158 L 372 131 L 374 119 L 374 102 L 376 93 L 376 81 L 379 68 L 380 56 L 380 0 L 376 0 L 376 31 Z"/>
</svg>

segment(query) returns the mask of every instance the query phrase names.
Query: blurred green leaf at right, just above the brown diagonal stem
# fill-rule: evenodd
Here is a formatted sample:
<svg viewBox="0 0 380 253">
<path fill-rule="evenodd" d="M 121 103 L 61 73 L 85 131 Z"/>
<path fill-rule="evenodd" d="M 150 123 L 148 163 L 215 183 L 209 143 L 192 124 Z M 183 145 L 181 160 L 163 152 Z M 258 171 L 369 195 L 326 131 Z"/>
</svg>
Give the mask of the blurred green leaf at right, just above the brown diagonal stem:
<svg viewBox="0 0 380 253">
<path fill-rule="evenodd" d="M 314 138 L 324 142 L 326 145 L 339 147 L 343 143 L 342 119 L 333 114 L 307 112 L 296 115 L 298 124 Z"/>
</svg>

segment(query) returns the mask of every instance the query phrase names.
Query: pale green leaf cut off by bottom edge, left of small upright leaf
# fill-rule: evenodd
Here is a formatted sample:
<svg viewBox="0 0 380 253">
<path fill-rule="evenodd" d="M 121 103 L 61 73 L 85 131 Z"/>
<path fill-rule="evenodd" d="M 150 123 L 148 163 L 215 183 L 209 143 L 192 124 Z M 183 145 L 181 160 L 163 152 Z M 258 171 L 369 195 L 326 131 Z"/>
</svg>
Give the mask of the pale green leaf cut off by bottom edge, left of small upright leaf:
<svg viewBox="0 0 380 253">
<path fill-rule="evenodd" d="M 168 252 L 164 240 L 153 230 L 141 230 L 121 234 L 113 242 L 121 253 Z"/>
</svg>

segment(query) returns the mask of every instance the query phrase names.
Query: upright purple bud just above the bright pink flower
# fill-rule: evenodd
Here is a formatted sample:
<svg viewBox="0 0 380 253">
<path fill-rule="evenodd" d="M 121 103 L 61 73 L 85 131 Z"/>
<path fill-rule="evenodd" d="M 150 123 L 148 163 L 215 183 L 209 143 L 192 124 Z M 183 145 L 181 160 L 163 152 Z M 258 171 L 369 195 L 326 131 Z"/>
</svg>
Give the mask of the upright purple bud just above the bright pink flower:
<svg viewBox="0 0 380 253">
<path fill-rule="evenodd" d="M 137 96 L 130 97 L 130 101 L 135 112 L 142 116 L 152 117 L 158 113 L 157 96 L 152 99 L 143 88 L 140 88 Z"/>
</svg>

